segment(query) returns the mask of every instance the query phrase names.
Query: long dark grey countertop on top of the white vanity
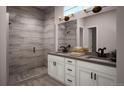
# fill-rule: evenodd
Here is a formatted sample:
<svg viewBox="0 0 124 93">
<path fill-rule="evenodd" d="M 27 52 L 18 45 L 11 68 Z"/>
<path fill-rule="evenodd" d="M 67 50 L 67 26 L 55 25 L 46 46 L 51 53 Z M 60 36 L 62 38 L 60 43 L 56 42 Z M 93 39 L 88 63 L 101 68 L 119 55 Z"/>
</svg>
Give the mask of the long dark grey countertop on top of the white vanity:
<svg viewBox="0 0 124 93">
<path fill-rule="evenodd" d="M 80 56 L 80 57 L 75 57 L 75 56 L 71 56 L 69 53 L 49 52 L 48 54 L 71 58 L 71 59 L 80 60 L 80 61 L 86 61 L 86 62 L 90 62 L 90 63 L 94 63 L 94 64 L 116 67 L 116 62 L 112 62 L 111 60 L 108 60 L 108 59 L 88 58 L 92 55 L 84 55 L 84 56 Z"/>
</svg>

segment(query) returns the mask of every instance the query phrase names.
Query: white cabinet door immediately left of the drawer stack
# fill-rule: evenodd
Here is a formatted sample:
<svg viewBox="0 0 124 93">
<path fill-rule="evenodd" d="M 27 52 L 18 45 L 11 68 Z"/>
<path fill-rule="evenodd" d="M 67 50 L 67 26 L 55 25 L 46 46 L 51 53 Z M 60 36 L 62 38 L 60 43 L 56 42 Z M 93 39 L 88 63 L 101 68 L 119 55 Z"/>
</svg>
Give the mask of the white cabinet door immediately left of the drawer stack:
<svg viewBox="0 0 124 93">
<path fill-rule="evenodd" d="M 56 65 L 56 78 L 64 83 L 64 64 L 58 63 Z"/>
</svg>

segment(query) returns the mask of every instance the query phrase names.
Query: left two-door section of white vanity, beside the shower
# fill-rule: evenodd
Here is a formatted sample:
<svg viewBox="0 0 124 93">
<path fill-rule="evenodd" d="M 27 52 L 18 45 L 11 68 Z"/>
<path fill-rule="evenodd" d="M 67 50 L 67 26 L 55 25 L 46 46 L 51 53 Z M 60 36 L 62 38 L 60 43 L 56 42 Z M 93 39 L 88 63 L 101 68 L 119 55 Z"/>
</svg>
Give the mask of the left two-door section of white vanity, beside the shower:
<svg viewBox="0 0 124 93">
<path fill-rule="evenodd" d="M 56 80 L 64 83 L 64 58 L 48 55 L 48 74 Z"/>
</svg>

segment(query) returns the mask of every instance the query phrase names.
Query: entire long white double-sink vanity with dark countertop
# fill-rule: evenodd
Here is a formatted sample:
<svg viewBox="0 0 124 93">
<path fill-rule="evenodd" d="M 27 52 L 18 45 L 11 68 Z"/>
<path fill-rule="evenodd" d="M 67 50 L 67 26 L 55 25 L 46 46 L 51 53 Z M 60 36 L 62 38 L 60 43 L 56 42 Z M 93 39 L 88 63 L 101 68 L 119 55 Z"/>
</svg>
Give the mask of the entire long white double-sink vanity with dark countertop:
<svg viewBox="0 0 124 93">
<path fill-rule="evenodd" d="M 69 53 L 49 53 L 48 74 L 65 85 L 116 85 L 116 63 L 89 55 L 74 57 Z"/>
</svg>

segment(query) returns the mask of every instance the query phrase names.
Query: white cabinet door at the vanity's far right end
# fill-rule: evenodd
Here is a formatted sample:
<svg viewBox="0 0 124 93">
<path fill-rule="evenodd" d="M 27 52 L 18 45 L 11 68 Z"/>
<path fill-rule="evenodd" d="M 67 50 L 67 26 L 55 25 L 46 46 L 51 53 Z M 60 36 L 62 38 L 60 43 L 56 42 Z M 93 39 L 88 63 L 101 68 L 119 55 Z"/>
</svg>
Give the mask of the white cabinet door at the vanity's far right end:
<svg viewBox="0 0 124 93">
<path fill-rule="evenodd" d="M 96 85 L 98 86 L 113 86 L 116 84 L 114 76 L 106 74 L 96 74 Z"/>
</svg>

